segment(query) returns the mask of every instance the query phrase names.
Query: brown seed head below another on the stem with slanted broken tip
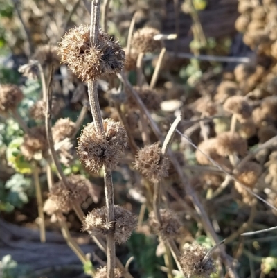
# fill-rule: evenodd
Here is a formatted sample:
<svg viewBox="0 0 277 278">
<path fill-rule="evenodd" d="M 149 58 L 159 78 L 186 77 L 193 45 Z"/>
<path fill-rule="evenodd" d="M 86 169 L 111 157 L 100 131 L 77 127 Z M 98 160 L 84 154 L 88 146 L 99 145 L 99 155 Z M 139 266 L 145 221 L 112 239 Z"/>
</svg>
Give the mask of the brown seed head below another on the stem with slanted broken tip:
<svg viewBox="0 0 277 278">
<path fill-rule="evenodd" d="M 160 209 L 161 224 L 158 222 L 154 215 L 154 211 L 149 214 L 149 225 L 154 234 L 160 235 L 163 240 L 174 238 L 179 234 L 181 227 L 180 220 L 174 211 L 170 209 Z"/>
</svg>

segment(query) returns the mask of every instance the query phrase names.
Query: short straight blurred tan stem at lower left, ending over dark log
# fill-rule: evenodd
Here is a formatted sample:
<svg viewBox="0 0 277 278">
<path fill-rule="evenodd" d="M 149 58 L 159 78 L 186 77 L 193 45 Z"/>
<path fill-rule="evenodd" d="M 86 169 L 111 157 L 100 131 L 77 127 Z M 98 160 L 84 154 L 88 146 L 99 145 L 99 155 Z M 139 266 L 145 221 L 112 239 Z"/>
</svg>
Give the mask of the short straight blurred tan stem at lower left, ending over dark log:
<svg viewBox="0 0 277 278">
<path fill-rule="evenodd" d="M 44 212 L 43 212 L 43 202 L 42 202 L 42 190 L 39 184 L 39 173 L 37 166 L 33 165 L 33 177 L 35 182 L 35 195 L 37 197 L 37 210 L 39 214 L 39 232 L 40 232 L 40 242 L 44 243 L 46 241 L 45 236 L 45 223 L 44 223 Z"/>
</svg>

